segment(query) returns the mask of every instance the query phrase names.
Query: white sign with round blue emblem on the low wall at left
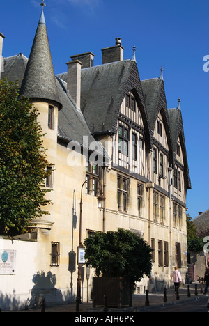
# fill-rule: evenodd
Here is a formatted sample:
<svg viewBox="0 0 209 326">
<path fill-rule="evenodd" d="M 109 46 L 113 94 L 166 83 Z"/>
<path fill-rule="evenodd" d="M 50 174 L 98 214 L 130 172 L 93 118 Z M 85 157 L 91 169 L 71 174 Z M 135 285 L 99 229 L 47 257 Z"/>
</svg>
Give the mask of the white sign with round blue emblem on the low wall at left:
<svg viewBox="0 0 209 326">
<path fill-rule="evenodd" d="M 0 249 L 0 274 L 15 274 L 16 250 Z"/>
</svg>

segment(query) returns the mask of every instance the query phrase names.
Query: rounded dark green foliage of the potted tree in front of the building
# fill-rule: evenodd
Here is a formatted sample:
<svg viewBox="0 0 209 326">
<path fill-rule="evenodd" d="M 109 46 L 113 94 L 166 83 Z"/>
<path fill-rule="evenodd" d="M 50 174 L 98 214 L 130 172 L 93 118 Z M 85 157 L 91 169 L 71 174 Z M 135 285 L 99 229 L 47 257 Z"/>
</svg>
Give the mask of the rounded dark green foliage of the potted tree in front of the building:
<svg viewBox="0 0 209 326">
<path fill-rule="evenodd" d="M 100 277 L 130 277 L 132 284 L 152 270 L 152 249 L 141 237 L 118 228 L 87 238 L 85 258 Z"/>
</svg>

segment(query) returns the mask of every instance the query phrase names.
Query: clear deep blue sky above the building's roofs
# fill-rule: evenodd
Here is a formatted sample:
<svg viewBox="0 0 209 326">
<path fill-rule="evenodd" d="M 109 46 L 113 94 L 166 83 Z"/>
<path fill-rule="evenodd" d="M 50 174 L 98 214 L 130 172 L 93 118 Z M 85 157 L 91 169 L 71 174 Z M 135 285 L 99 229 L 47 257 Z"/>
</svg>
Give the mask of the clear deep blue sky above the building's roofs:
<svg viewBox="0 0 209 326">
<path fill-rule="evenodd" d="M 3 56 L 29 56 L 40 17 L 40 0 L 1 1 Z M 95 65 L 101 49 L 121 37 L 124 59 L 137 47 L 141 80 L 160 77 L 168 108 L 181 99 L 192 190 L 192 218 L 208 203 L 208 84 L 203 57 L 209 56 L 208 0 L 45 0 L 45 19 L 55 73 L 65 72 L 70 56 L 91 51 Z M 208 65 L 209 67 L 209 65 Z"/>
</svg>

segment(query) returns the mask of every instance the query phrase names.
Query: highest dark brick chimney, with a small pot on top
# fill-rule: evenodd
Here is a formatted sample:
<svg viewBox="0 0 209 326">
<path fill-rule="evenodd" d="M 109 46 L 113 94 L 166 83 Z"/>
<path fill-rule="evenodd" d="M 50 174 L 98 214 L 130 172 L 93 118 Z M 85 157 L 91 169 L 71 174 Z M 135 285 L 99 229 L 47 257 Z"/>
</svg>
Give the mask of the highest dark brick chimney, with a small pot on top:
<svg viewBox="0 0 209 326">
<path fill-rule="evenodd" d="M 121 38 L 116 38 L 116 45 L 114 47 L 102 49 L 102 64 L 123 61 L 123 50 Z"/>
</svg>

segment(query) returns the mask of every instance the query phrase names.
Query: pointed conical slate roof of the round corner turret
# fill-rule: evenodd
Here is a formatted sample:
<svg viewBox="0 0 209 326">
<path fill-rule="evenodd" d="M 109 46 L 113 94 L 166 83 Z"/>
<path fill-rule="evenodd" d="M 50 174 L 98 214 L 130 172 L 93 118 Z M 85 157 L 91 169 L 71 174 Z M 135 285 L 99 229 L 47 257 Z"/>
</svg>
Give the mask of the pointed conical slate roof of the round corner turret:
<svg viewBox="0 0 209 326">
<path fill-rule="evenodd" d="M 22 95 L 31 99 L 55 102 L 54 104 L 59 109 L 62 107 L 56 87 L 56 77 L 43 10 L 20 88 L 20 96 Z"/>
</svg>

